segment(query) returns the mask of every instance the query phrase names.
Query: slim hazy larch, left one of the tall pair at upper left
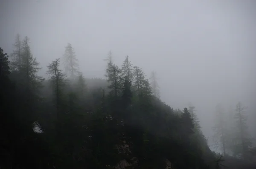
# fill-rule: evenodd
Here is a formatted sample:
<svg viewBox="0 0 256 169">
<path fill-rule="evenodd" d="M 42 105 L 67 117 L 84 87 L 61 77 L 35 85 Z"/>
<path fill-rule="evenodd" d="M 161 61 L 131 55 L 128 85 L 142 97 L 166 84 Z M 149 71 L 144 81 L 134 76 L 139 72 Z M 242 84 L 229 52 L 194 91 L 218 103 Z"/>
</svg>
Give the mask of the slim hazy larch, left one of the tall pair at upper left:
<svg viewBox="0 0 256 169">
<path fill-rule="evenodd" d="M 17 34 L 15 37 L 15 43 L 13 45 L 14 50 L 11 54 L 12 62 L 11 62 L 11 68 L 13 70 L 20 70 L 21 62 L 22 62 L 22 43 L 20 40 L 20 34 Z"/>
</svg>

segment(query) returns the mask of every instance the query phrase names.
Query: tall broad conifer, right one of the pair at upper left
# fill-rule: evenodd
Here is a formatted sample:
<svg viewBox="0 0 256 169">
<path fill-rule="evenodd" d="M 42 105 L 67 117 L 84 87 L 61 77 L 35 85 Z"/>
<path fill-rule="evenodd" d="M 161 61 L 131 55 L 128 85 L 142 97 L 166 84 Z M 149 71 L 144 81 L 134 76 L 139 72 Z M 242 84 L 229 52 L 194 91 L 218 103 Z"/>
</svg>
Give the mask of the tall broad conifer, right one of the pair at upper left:
<svg viewBox="0 0 256 169">
<path fill-rule="evenodd" d="M 38 100 L 40 99 L 40 89 L 42 87 L 43 77 L 38 75 L 38 71 L 41 69 L 39 67 L 39 62 L 33 57 L 30 46 L 29 38 L 26 36 L 22 42 L 21 47 L 21 65 L 19 74 L 19 90 L 23 93 L 23 108 L 27 117 L 23 120 L 27 120 L 28 123 L 32 124 L 37 118 L 37 113 L 40 111 L 38 109 Z"/>
</svg>

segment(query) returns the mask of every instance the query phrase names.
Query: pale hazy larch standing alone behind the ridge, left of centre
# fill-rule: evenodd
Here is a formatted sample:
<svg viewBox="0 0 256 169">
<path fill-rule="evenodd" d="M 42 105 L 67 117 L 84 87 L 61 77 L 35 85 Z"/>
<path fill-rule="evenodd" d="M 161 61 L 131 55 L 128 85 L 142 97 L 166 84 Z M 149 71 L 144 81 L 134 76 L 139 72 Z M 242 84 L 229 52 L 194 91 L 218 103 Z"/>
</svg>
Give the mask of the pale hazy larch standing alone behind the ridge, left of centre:
<svg viewBox="0 0 256 169">
<path fill-rule="evenodd" d="M 74 79 L 75 76 L 79 73 L 79 63 L 78 59 L 76 58 L 76 53 L 70 43 L 67 44 L 65 47 L 64 52 L 64 66 L 65 66 L 65 73 L 71 79 Z"/>
</svg>

